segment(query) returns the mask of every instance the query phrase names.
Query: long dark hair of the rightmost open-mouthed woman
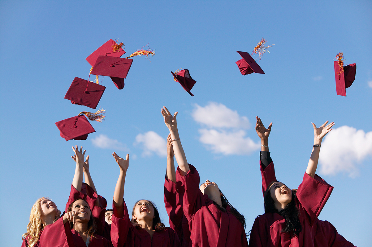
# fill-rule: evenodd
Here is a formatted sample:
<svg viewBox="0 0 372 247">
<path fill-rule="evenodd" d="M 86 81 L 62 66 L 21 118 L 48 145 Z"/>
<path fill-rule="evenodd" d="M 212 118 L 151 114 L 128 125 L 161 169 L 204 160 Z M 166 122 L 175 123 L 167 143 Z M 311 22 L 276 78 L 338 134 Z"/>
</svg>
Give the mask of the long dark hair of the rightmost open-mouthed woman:
<svg viewBox="0 0 372 247">
<path fill-rule="evenodd" d="M 264 205 L 265 205 L 265 213 L 278 213 L 285 218 L 285 227 L 282 232 L 291 234 L 291 237 L 295 237 L 299 235 L 302 231 L 302 226 L 299 220 L 300 212 L 295 204 L 296 194 L 292 193 L 292 200 L 289 202 L 285 208 L 281 211 L 278 211 L 275 208 L 275 203 L 273 198 L 270 195 L 270 187 L 274 182 L 271 182 L 263 195 L 264 197 Z"/>
</svg>

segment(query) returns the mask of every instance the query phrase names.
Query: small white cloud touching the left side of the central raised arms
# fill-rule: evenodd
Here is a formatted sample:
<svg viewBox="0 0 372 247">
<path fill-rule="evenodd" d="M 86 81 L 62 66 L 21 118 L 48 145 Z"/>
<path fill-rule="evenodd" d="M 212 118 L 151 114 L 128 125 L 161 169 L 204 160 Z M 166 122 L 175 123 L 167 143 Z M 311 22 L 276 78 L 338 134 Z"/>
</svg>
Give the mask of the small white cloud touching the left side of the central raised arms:
<svg viewBox="0 0 372 247">
<path fill-rule="evenodd" d="M 160 157 L 167 156 L 167 142 L 166 139 L 154 131 L 148 131 L 144 134 L 136 136 L 136 144 L 141 144 L 143 148 L 142 156 L 151 156 L 154 153 Z"/>
</svg>

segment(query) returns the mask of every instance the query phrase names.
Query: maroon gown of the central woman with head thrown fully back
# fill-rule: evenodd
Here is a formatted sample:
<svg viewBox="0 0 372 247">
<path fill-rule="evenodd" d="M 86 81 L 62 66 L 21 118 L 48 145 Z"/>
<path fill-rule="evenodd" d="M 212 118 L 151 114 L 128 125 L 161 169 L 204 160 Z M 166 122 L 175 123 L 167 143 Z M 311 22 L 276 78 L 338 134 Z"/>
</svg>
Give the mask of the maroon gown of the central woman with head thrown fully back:
<svg viewBox="0 0 372 247">
<path fill-rule="evenodd" d="M 182 197 L 183 213 L 191 231 L 189 246 L 198 247 L 247 247 L 246 232 L 240 221 L 230 213 L 217 208 L 208 195 L 199 190 L 199 174 L 189 165 L 190 171 L 182 176 L 177 168 L 176 181 Z M 180 185 L 180 186 L 178 186 Z"/>
</svg>

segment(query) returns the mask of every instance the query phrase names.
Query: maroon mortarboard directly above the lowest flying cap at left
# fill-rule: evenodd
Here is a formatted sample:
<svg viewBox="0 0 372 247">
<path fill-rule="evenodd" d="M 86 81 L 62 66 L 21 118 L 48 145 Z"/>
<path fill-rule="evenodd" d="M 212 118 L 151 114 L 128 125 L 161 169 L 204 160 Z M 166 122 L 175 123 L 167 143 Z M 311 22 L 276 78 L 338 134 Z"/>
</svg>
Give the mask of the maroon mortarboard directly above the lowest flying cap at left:
<svg viewBox="0 0 372 247">
<path fill-rule="evenodd" d="M 69 99 L 73 104 L 96 109 L 105 89 L 105 86 L 75 77 L 67 90 L 65 99 Z"/>
</svg>

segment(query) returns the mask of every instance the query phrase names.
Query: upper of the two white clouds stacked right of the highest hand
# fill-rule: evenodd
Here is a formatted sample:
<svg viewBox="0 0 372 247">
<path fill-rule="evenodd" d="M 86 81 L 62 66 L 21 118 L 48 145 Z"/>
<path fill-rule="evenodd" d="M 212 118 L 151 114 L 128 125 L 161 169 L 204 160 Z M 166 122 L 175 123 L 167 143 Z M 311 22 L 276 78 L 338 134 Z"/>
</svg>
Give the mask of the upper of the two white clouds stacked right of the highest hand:
<svg viewBox="0 0 372 247">
<path fill-rule="evenodd" d="M 209 128 L 240 128 L 248 129 L 250 123 L 246 116 L 239 116 L 237 111 L 232 111 L 225 105 L 210 102 L 202 107 L 195 104 L 196 109 L 192 117 L 198 123 L 202 123 Z"/>
</svg>

